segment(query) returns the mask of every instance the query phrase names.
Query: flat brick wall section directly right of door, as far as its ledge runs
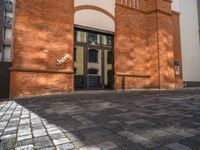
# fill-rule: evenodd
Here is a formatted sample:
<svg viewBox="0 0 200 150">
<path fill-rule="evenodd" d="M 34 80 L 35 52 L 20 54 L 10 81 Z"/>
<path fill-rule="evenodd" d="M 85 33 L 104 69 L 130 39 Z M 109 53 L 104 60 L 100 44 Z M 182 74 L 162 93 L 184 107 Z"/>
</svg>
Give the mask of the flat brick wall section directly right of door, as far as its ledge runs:
<svg viewBox="0 0 200 150">
<path fill-rule="evenodd" d="M 121 74 L 126 74 L 126 88 L 143 88 L 148 78 L 131 77 L 148 75 L 148 53 L 146 41 L 146 15 L 135 10 L 116 5 L 115 32 L 115 88 L 121 88 Z"/>
</svg>

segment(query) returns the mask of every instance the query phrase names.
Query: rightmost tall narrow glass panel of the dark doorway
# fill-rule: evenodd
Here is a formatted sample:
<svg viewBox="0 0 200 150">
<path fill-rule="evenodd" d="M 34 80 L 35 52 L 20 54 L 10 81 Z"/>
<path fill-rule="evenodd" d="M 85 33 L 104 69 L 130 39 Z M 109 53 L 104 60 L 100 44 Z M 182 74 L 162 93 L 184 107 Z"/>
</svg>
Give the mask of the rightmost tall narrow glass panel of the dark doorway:
<svg viewBox="0 0 200 150">
<path fill-rule="evenodd" d="M 112 88 L 113 82 L 113 53 L 111 50 L 104 51 L 104 86 Z"/>
</svg>

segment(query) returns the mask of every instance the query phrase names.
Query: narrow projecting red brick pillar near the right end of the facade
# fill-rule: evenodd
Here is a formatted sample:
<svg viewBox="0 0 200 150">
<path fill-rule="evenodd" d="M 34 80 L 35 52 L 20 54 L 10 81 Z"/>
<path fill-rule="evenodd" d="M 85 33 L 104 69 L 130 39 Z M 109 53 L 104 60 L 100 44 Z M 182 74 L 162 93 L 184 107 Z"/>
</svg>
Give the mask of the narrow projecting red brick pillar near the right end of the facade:
<svg viewBox="0 0 200 150">
<path fill-rule="evenodd" d="M 174 43 L 171 0 L 156 0 L 156 7 L 159 84 L 161 89 L 174 89 Z"/>
</svg>

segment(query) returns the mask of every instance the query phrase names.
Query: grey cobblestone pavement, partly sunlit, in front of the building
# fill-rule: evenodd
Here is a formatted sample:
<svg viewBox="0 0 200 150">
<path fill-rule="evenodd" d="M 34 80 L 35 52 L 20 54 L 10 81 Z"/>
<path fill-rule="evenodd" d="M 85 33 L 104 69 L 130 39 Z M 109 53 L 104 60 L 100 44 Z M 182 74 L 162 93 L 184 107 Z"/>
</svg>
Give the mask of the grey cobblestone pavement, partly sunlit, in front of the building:
<svg viewBox="0 0 200 150">
<path fill-rule="evenodd" d="M 200 89 L 0 102 L 1 150 L 200 150 Z"/>
</svg>

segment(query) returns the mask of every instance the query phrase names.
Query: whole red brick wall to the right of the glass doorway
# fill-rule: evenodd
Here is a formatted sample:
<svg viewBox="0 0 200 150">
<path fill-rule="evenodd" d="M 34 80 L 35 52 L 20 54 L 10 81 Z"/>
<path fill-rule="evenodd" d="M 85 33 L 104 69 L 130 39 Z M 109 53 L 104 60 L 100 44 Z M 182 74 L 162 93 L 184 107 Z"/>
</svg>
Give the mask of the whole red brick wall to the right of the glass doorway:
<svg viewBox="0 0 200 150">
<path fill-rule="evenodd" d="M 180 34 L 174 37 L 177 22 L 170 6 L 170 0 L 142 0 L 139 10 L 116 4 L 116 89 L 122 88 L 122 76 L 126 88 L 177 87 L 174 38 Z"/>
</svg>

